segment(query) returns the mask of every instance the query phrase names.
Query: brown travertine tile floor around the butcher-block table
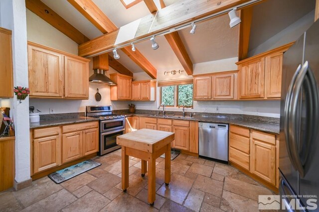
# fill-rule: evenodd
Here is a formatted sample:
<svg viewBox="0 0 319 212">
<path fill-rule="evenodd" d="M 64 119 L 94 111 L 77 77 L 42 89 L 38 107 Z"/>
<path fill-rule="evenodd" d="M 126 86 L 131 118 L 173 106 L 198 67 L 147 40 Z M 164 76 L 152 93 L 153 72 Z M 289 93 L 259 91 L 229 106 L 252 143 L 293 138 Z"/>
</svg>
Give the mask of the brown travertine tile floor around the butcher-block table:
<svg viewBox="0 0 319 212">
<path fill-rule="evenodd" d="M 130 187 L 121 190 L 121 150 L 96 157 L 101 166 L 59 185 L 44 177 L 23 190 L 0 193 L 0 211 L 32 212 L 219 212 L 258 211 L 258 195 L 272 192 L 237 169 L 179 155 L 164 184 L 164 159 L 157 159 L 156 201 L 147 204 L 147 179 L 141 160 L 130 157 Z"/>
</svg>

